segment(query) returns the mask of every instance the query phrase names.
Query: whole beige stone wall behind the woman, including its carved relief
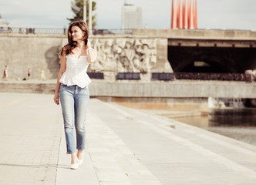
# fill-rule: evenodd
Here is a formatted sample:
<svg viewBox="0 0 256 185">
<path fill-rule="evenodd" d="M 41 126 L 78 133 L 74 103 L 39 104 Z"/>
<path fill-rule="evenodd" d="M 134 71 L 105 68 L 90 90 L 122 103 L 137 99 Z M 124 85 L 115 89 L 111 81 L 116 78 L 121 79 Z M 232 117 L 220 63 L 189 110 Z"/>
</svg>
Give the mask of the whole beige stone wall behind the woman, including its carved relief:
<svg viewBox="0 0 256 185">
<path fill-rule="evenodd" d="M 115 81 L 118 72 L 141 72 L 141 80 L 150 81 L 151 72 L 173 72 L 167 60 L 167 39 L 133 35 L 93 36 L 98 62 L 89 72 L 103 72 L 106 80 Z M 28 69 L 32 79 L 56 79 L 59 51 L 67 43 L 66 35 L 0 35 L 0 68 L 8 66 L 9 79 L 24 79 Z"/>
</svg>

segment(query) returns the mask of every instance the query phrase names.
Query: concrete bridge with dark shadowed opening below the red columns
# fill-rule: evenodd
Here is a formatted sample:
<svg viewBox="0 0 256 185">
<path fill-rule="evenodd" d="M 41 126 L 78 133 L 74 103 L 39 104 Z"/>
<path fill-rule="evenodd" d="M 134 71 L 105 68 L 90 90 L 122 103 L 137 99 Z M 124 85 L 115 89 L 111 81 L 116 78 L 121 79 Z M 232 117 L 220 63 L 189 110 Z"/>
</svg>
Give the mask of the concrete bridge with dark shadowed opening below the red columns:
<svg viewBox="0 0 256 185">
<path fill-rule="evenodd" d="M 173 72 L 238 72 L 256 69 L 256 32 L 241 30 L 133 30 L 167 39 Z"/>
</svg>

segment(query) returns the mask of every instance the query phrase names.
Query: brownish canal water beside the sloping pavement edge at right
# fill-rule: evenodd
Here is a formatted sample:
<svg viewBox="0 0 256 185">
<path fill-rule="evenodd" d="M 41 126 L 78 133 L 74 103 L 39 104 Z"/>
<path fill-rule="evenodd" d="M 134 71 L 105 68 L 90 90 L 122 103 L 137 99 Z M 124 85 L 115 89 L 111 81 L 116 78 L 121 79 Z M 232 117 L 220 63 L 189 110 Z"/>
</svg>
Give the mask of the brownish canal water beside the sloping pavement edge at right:
<svg viewBox="0 0 256 185">
<path fill-rule="evenodd" d="M 256 109 L 210 109 L 207 116 L 172 119 L 256 146 Z"/>
</svg>

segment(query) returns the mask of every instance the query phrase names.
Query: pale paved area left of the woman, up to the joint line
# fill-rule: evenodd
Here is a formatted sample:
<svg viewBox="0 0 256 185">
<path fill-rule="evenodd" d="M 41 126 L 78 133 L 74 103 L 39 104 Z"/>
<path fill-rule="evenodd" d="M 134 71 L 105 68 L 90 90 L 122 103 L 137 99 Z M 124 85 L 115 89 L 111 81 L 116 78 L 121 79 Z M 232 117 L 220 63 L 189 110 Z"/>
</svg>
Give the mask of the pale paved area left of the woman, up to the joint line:
<svg viewBox="0 0 256 185">
<path fill-rule="evenodd" d="M 52 95 L 0 93 L 0 184 L 55 184 L 60 113 Z"/>
</svg>

